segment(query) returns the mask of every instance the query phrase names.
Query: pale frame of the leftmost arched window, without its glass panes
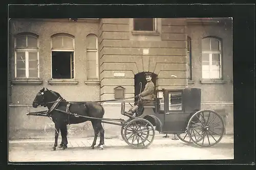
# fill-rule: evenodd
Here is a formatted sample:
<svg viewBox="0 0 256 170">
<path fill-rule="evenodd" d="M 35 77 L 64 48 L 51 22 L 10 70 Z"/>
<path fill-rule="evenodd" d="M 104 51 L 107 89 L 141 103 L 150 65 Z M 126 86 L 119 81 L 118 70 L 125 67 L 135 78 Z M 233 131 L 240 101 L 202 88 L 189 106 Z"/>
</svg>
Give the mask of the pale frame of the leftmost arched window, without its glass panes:
<svg viewBox="0 0 256 170">
<path fill-rule="evenodd" d="M 26 45 L 28 45 L 28 36 L 31 36 L 31 37 L 34 37 L 36 38 L 36 41 L 37 41 L 37 44 L 36 46 L 37 47 L 22 47 L 22 48 L 19 48 L 17 47 L 17 38 L 18 37 L 22 37 L 22 36 L 26 36 Z M 21 78 L 21 77 L 17 77 L 17 52 L 25 52 L 25 75 L 26 77 L 25 78 Z M 29 52 L 36 52 L 37 53 L 37 78 L 30 78 L 29 77 Z M 15 79 L 39 79 L 40 77 L 40 67 L 39 67 L 39 37 L 35 34 L 32 34 L 32 33 L 20 33 L 20 34 L 17 34 L 15 37 L 14 37 L 14 78 Z"/>
</svg>

